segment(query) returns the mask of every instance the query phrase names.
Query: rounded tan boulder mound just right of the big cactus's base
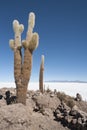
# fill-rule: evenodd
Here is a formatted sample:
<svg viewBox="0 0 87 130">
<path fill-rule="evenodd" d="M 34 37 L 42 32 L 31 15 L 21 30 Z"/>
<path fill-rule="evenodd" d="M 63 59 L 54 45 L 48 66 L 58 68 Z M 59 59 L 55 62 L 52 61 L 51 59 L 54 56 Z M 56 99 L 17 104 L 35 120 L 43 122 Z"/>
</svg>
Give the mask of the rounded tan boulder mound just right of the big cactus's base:
<svg viewBox="0 0 87 130">
<path fill-rule="evenodd" d="M 37 92 L 32 96 L 32 99 L 36 103 L 36 108 L 34 108 L 35 111 L 44 111 L 44 109 L 51 109 L 54 111 L 58 104 L 60 104 L 60 100 L 57 98 L 57 95 L 54 93 L 40 93 Z"/>
</svg>

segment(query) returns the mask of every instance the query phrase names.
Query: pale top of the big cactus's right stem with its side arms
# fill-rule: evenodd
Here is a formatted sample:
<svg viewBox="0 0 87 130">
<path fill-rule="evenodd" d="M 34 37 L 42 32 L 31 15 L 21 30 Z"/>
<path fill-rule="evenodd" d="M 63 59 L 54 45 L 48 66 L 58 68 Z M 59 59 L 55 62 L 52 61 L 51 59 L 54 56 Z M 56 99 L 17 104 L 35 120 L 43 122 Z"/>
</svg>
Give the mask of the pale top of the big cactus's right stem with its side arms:
<svg viewBox="0 0 87 130">
<path fill-rule="evenodd" d="M 39 35 L 33 33 L 33 28 L 35 26 L 35 14 L 31 12 L 28 19 L 28 30 L 26 35 L 26 40 L 22 42 L 24 48 L 29 48 L 33 52 L 38 47 Z"/>
</svg>

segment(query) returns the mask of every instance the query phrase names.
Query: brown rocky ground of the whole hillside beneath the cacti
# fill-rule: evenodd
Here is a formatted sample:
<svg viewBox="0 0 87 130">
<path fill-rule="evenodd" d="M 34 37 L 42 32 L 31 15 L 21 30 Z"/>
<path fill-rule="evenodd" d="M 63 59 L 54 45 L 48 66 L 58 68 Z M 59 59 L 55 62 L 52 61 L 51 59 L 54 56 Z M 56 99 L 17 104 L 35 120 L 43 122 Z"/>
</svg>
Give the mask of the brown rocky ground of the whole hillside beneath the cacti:
<svg viewBox="0 0 87 130">
<path fill-rule="evenodd" d="M 26 106 L 0 100 L 0 130 L 87 130 L 87 102 L 64 93 L 28 91 Z M 15 89 L 9 88 L 12 95 Z"/>
</svg>

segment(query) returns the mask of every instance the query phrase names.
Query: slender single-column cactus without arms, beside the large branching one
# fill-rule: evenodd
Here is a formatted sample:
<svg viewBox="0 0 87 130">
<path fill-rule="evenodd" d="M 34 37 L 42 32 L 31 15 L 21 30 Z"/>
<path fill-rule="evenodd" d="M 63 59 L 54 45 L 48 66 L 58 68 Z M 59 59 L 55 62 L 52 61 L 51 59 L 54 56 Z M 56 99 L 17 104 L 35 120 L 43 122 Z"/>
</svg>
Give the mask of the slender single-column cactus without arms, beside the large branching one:
<svg viewBox="0 0 87 130">
<path fill-rule="evenodd" d="M 43 89 L 43 71 L 44 71 L 44 55 L 41 57 L 40 73 L 39 73 L 39 90 L 41 93 L 44 92 Z"/>
</svg>

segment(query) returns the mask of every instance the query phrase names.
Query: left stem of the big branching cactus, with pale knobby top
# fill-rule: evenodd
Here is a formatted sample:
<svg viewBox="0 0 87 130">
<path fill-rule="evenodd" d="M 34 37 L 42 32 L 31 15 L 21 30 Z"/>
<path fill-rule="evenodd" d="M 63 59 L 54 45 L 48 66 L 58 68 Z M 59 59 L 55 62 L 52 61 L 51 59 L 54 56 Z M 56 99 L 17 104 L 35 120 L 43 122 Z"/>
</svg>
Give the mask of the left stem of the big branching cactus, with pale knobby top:
<svg viewBox="0 0 87 130">
<path fill-rule="evenodd" d="M 17 101 L 19 97 L 18 89 L 21 87 L 21 68 L 22 68 L 22 53 L 21 53 L 21 33 L 24 26 L 19 24 L 17 20 L 13 21 L 14 40 L 9 41 L 10 47 L 14 51 L 14 78 L 17 89 Z"/>
</svg>

